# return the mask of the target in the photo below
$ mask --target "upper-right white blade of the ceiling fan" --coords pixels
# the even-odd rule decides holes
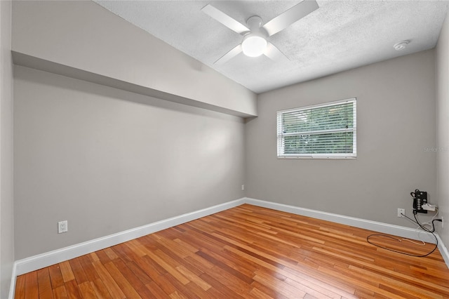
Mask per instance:
[[[267,24],[263,25],[262,28],[267,30],[268,36],[272,36],[318,8],[319,6],[315,0],[304,0],[288,9],[288,11],[284,11],[276,18],[273,18]]]

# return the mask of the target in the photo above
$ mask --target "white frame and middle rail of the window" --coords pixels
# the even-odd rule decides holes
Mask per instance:
[[[282,132],[282,117],[284,114],[287,114],[289,112],[303,112],[304,110],[309,109],[317,109],[317,108],[323,108],[323,107],[329,107],[329,106],[336,106],[341,105],[343,103],[353,103],[353,128],[347,128],[347,129],[336,129],[336,130],[328,130],[328,131],[322,131],[322,133],[340,133],[340,132],[352,132],[353,133],[353,139],[352,139],[352,153],[342,153],[342,154],[331,154],[331,153],[325,153],[325,154],[284,154],[282,147],[283,147],[283,139],[288,136],[284,135]],[[279,110],[276,112],[276,132],[277,132],[277,158],[278,159],[356,159],[357,157],[357,98],[347,98],[344,100],[337,100],[333,102],[325,102],[321,104],[316,105],[309,105],[304,107],[296,107],[291,109],[284,109]],[[307,133],[304,131],[303,133]],[[290,134],[290,135],[299,135],[298,133]]]

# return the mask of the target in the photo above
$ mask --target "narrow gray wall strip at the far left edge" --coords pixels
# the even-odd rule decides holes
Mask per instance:
[[[14,263],[13,62],[11,1],[0,1],[0,298],[8,298]]]

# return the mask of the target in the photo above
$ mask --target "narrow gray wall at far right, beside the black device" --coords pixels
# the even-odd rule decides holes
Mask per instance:
[[[436,156],[438,206],[449,225],[449,18],[446,16],[436,47]],[[449,246],[449,230],[438,230]]]

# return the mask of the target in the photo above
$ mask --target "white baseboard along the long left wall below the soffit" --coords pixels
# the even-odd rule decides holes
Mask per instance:
[[[182,223],[189,222],[207,215],[211,215],[213,213],[225,211],[229,208],[234,208],[234,206],[240,206],[244,202],[245,199],[243,198],[236,199],[234,201],[229,201],[225,204],[219,204],[217,206],[203,208],[202,210],[199,211],[194,211],[173,218],[168,218],[166,220],[153,222],[150,223],[149,225],[143,225],[141,227],[136,227],[131,230],[118,232],[116,234],[110,234],[109,236],[106,237],[93,239],[91,241],[86,241],[80,244],[60,248],[55,251],[49,251],[47,253],[42,253],[39,255],[34,255],[29,258],[24,258],[22,260],[17,260],[15,262],[15,275],[21,275],[27,272],[32,272],[34,270],[39,270],[43,267],[55,265],[65,260],[70,260],[72,258],[76,258],[81,255],[91,253],[93,251],[99,251],[101,249],[114,246],[116,244],[121,244],[123,242],[136,239],[145,236],[147,234],[152,234],[154,232],[159,232],[160,230],[165,230],[166,228],[173,227],[175,225],[180,225]],[[15,280],[15,276],[13,277],[13,279]]]

